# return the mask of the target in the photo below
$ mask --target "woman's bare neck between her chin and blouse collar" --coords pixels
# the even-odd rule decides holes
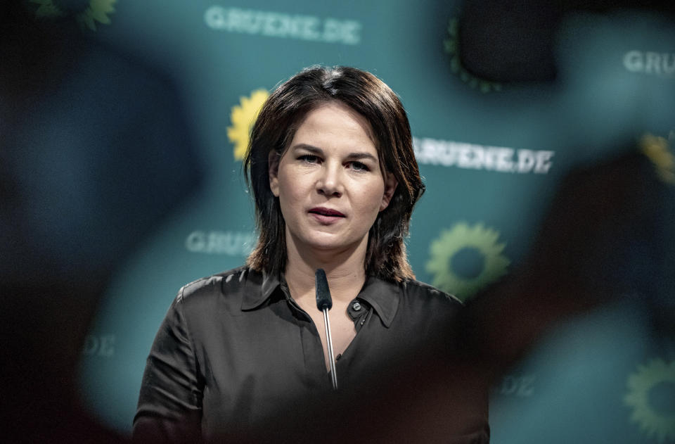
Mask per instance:
[[[290,236],[288,231],[286,235]],[[284,276],[293,298],[314,298],[315,272],[319,268],[326,272],[333,300],[352,300],[364,286],[367,236],[358,246],[344,250],[303,250],[301,253],[295,242],[286,244],[288,261]]]

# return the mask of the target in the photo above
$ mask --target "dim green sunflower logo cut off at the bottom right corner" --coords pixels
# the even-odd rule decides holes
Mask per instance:
[[[628,378],[628,390],[624,403],[633,408],[631,421],[659,443],[675,440],[675,360],[639,365]]]

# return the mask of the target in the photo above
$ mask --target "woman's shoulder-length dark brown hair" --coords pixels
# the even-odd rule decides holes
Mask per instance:
[[[269,188],[269,153],[282,156],[309,111],[342,102],[368,120],[383,172],[398,185],[389,206],[368,232],[366,274],[402,281],[415,276],[406,258],[413,206],[424,191],[413,152],[410,124],[398,96],[370,72],[338,66],[312,66],[277,87],[252,128],[243,168],[255,198],[257,246],[248,257],[252,269],[275,274],[285,269],[285,222]]]

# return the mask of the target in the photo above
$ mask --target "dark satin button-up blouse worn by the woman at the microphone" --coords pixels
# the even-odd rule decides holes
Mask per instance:
[[[415,359],[460,308],[418,281],[369,277],[347,310],[356,336],[336,357],[340,395],[358,398],[368,381],[387,378],[383,369]],[[331,391],[319,332],[283,277],[240,267],[179,291],[148,356],[134,438],[216,441],[264,430],[267,419]]]

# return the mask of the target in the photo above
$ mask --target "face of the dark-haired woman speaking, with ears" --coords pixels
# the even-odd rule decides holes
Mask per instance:
[[[347,250],[368,245],[368,230],[389,205],[396,179],[380,170],[371,126],[339,102],[311,110],[281,159],[270,156],[288,248]]]

